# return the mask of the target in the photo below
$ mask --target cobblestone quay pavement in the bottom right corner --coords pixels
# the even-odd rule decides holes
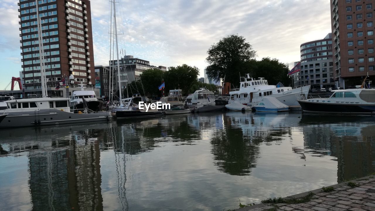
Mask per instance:
[[[347,186],[348,182],[333,185],[335,188],[330,192],[323,192],[321,189],[312,191],[315,195],[306,203],[298,204],[258,204],[240,208],[238,211],[375,211],[375,179],[373,176],[353,180],[357,187]],[[305,195],[308,192],[303,193]],[[298,194],[302,197],[303,194]],[[287,197],[296,197],[297,195]],[[298,198],[296,197],[296,198]]]

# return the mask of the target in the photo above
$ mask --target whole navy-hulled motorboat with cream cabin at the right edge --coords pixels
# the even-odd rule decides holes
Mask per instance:
[[[298,99],[303,113],[375,115],[375,89],[339,89],[332,95],[309,95]]]

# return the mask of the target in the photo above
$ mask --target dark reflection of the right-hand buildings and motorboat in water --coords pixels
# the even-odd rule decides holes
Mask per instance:
[[[338,162],[338,182],[360,178],[375,171],[373,122],[368,118],[326,118],[318,124],[302,118],[306,153],[332,156]]]

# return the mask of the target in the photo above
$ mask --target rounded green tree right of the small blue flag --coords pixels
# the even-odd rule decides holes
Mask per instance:
[[[165,90],[182,89],[183,95],[187,95],[190,87],[198,80],[198,75],[199,69],[196,66],[183,64],[169,67],[164,77]]]

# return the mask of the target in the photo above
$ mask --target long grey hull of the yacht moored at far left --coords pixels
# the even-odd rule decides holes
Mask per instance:
[[[0,122],[0,128],[74,124],[107,121],[111,118],[110,112],[71,113],[57,109],[40,109],[28,112],[9,112],[3,121]]]

